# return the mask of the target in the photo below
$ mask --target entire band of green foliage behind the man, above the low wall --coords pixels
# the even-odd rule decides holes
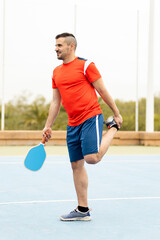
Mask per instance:
[[[104,103],[102,98],[98,99],[103,111],[104,119],[113,115],[110,108]],[[123,116],[123,131],[135,130],[135,102],[134,101],[115,101],[121,115]],[[31,104],[28,103],[28,97],[20,96],[19,98],[9,101],[5,106],[5,130],[42,130],[44,128],[49,103],[43,96],[38,96]],[[154,124],[155,131],[160,131],[160,97],[154,100]],[[1,111],[0,111],[1,115]],[[139,131],[145,131],[146,118],[146,99],[139,101]],[[66,130],[68,122],[67,113],[63,106],[60,108],[59,115],[53,125],[53,130]]]

